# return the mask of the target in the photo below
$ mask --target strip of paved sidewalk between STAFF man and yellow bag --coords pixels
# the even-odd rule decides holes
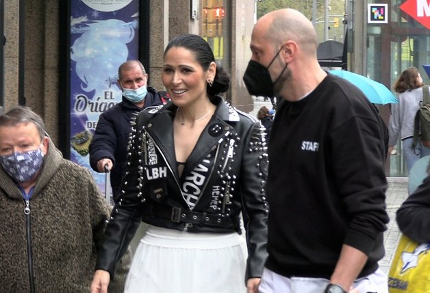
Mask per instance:
[[[396,211],[400,205],[407,198],[407,177],[395,178],[390,177],[388,180],[387,190],[387,212],[390,216],[390,222],[388,223],[388,229],[385,231],[383,236],[383,242],[385,245],[385,257],[379,262],[381,269],[388,274],[390,270],[390,264],[396,251],[397,243],[401,232],[396,224]]]

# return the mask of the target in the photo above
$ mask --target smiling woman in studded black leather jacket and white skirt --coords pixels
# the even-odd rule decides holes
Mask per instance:
[[[106,292],[118,256],[143,220],[151,227],[125,292],[257,293],[268,214],[262,127],[224,101],[230,78],[200,36],[169,42],[162,81],[172,103],[143,110],[134,123],[123,192],[91,292]]]

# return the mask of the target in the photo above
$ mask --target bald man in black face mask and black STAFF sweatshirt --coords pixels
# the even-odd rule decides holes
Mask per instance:
[[[317,47],[296,10],[270,12],[253,29],[246,88],[281,99],[260,292],[388,292],[378,267],[389,220],[384,127],[358,88],[320,67]]]

